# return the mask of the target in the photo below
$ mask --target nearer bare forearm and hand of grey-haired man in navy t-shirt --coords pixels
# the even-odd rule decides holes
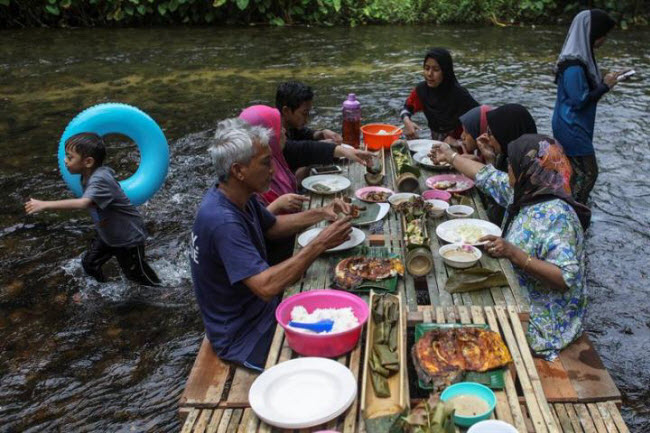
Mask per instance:
[[[307,268],[325,250],[347,240],[352,231],[349,221],[349,217],[336,221],[291,258],[246,278],[242,282],[260,298],[265,301],[271,300],[285,288],[298,281]]]

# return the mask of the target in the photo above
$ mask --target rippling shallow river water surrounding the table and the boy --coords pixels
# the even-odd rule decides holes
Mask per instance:
[[[477,100],[528,106],[550,132],[551,67],[564,29],[237,28],[0,32],[0,431],[177,431],[176,409],[203,326],[186,259],[195,209],[213,179],[205,152],[216,122],[272,104],[287,79],[316,91],[314,125],[338,127],[348,92],[364,121],[397,122],[427,47],[449,47]],[[601,175],[587,237],[588,330],[625,394],[632,431],[650,431],[650,31],[615,31],[604,69],[637,78],[599,105]],[[170,141],[163,189],[140,209],[148,256],[165,287],[100,285],[80,270],[92,238],[83,212],[26,217],[29,197],[69,196],[56,149],[67,122],[96,103],[136,105]],[[132,143],[111,140],[127,176]]]

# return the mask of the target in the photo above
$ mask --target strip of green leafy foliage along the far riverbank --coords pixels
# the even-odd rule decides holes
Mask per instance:
[[[644,0],[0,0],[0,27],[169,24],[555,23],[599,7],[647,25]]]

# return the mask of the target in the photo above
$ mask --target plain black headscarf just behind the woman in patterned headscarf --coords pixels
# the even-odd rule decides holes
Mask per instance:
[[[488,127],[501,145],[504,155],[508,155],[508,146],[524,134],[537,134],[535,119],[526,107],[519,104],[505,104],[488,111]]]

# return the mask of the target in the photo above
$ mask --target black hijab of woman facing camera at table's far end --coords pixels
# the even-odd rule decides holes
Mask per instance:
[[[438,87],[429,87],[423,81],[416,86],[415,91],[424,107],[429,128],[435,132],[448,133],[460,126],[458,118],[477,107],[478,102],[458,83],[449,51],[432,48],[424,57],[423,65],[428,59],[435,59],[440,65],[442,82]]]

